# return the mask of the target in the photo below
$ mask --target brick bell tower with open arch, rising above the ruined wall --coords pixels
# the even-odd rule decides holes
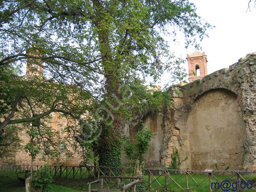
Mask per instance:
[[[189,71],[189,82],[196,79],[202,79],[207,75],[207,58],[204,52],[194,52],[193,54],[187,54],[187,63]]]

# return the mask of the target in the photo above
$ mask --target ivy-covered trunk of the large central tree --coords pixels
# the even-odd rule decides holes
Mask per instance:
[[[102,123],[102,133],[100,135],[99,146],[98,146],[98,156],[100,166],[121,166],[121,121],[118,110],[114,109],[119,103],[115,97],[118,96],[118,90],[120,86],[119,81],[119,64],[114,61],[112,56],[112,50],[109,43],[109,35],[111,31],[106,26],[110,24],[108,18],[106,17],[106,10],[99,0],[93,0],[93,6],[95,7],[95,12],[97,19],[95,20],[95,27],[98,29],[98,39],[100,42],[100,52],[104,57],[102,58],[102,68],[105,73],[105,89],[106,89],[106,106],[109,111],[105,111],[105,116],[111,119],[106,120]],[[114,97],[113,97],[114,96]],[[111,113],[111,115],[109,115]],[[111,116],[111,117],[110,117]],[[109,125],[109,122],[110,125]],[[109,170],[104,169],[106,174],[109,174]],[[119,169],[112,170],[115,175],[120,174]],[[105,174],[104,173],[104,174]]]

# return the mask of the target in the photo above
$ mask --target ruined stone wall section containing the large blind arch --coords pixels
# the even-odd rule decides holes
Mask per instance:
[[[182,169],[256,169],[256,53],[186,85],[163,113],[160,163],[179,151]]]

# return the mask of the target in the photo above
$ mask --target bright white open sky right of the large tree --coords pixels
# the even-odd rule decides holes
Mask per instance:
[[[247,11],[249,0],[190,0],[197,7],[197,14],[211,25],[209,38],[200,43],[202,51],[207,55],[208,74],[226,68],[237,62],[246,54],[256,52],[256,8],[254,0],[250,4],[251,12]],[[247,11],[247,12],[246,12]],[[185,49],[182,39],[180,44],[171,49],[186,59],[187,54],[195,52],[195,48]],[[172,51],[171,50],[171,51]],[[187,63],[184,66],[187,69]],[[167,74],[160,85],[167,81]]]

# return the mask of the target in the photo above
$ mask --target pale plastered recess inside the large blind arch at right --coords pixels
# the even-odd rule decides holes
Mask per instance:
[[[187,118],[191,168],[241,170],[245,128],[236,94],[213,89],[200,96]]]

